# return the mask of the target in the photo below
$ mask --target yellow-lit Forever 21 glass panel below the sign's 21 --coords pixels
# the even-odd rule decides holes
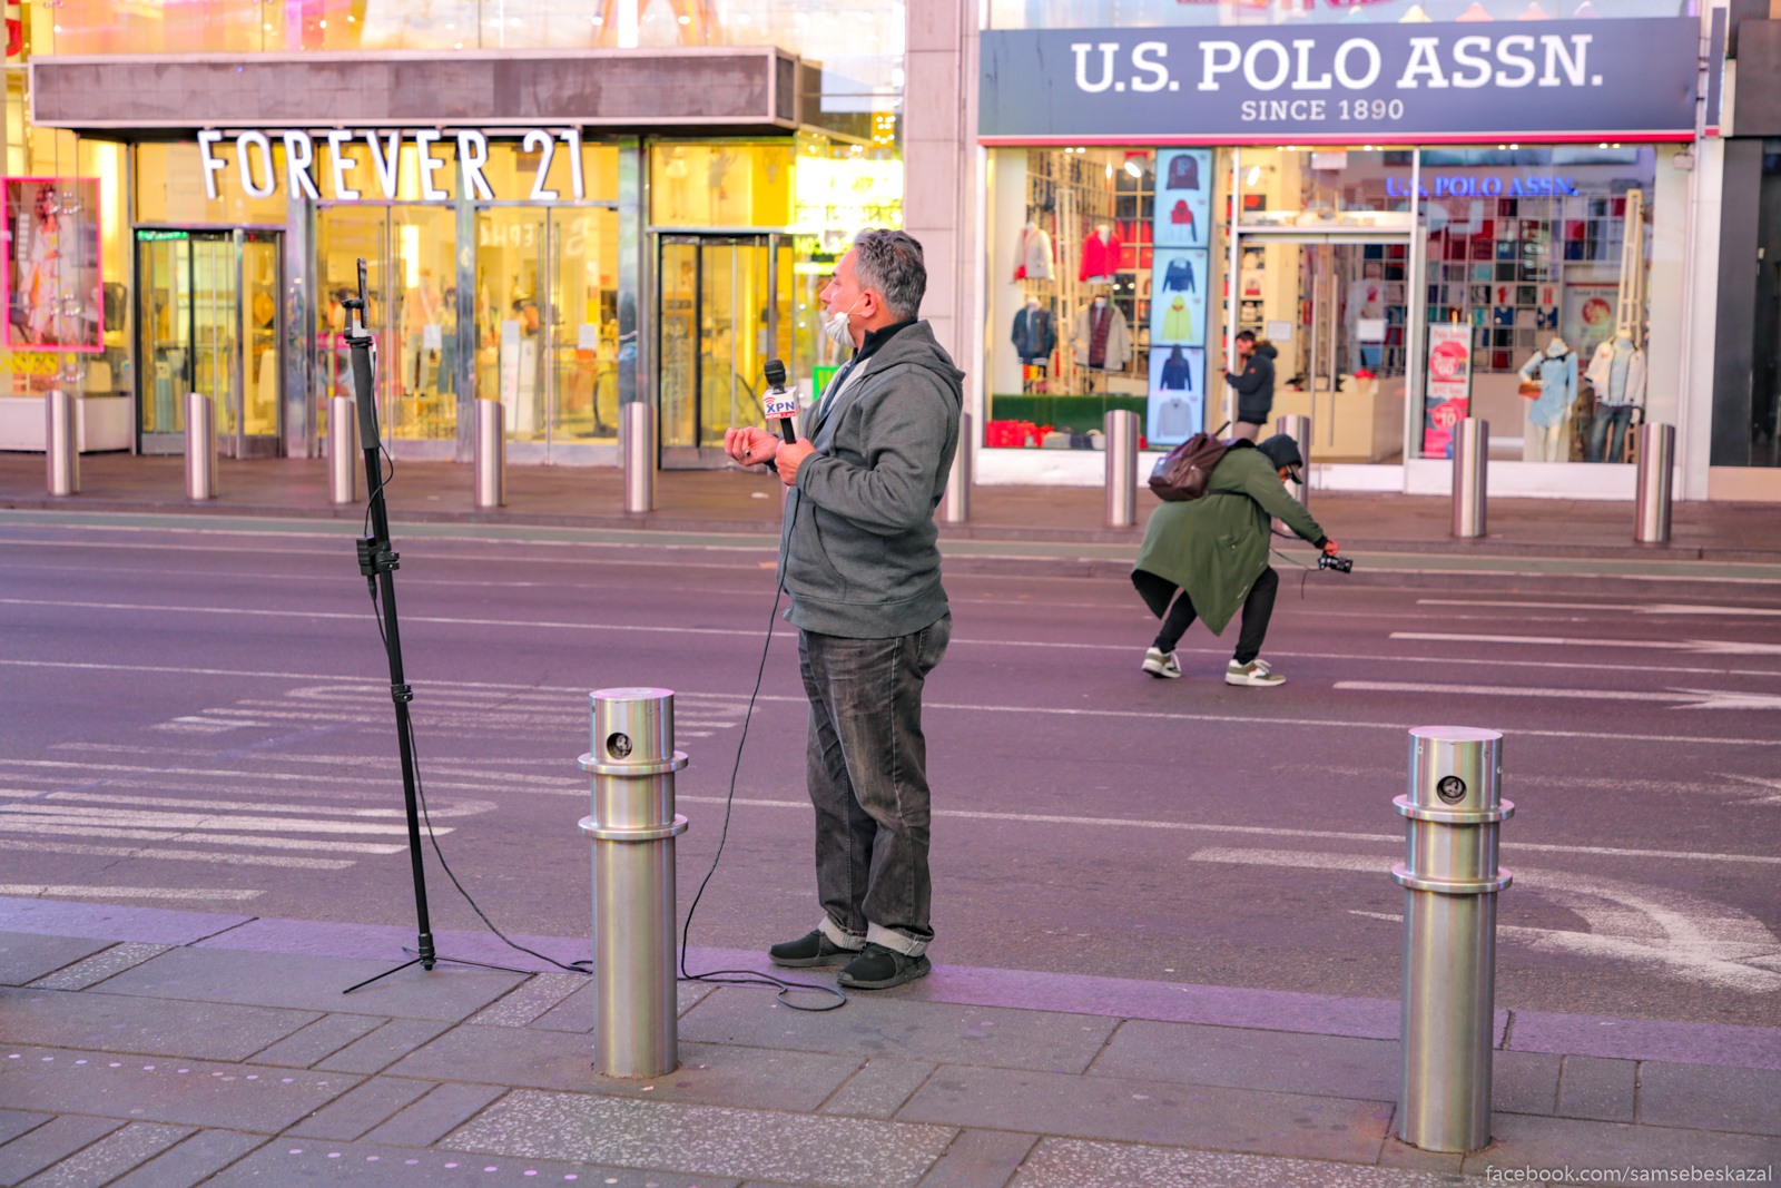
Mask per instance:
[[[511,458],[566,461],[618,440],[614,210],[477,210],[474,374],[502,404]]]

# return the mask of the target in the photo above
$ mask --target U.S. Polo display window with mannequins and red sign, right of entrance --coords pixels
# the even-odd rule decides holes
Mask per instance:
[[[1419,456],[1450,456],[1453,424],[1480,417],[1503,460],[1633,460],[1658,330],[1656,160],[1637,144],[1423,150]]]

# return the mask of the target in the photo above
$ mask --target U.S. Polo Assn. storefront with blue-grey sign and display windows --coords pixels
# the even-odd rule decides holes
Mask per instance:
[[[1781,499],[1774,287],[1717,274],[1753,7],[990,0],[980,476],[1095,481],[1110,410],[1216,431],[1248,331],[1318,486],[1446,492],[1478,417],[1492,493],[1631,499],[1649,420],[1683,497]]]

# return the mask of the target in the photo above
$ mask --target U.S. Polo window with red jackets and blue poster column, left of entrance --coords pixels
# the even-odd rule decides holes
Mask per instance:
[[[1113,410],[1138,413],[1147,445],[1206,426],[1227,151],[997,150],[992,169],[985,443],[1102,449]]]

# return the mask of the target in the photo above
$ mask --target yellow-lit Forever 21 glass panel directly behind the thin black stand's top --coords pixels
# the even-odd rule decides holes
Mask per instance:
[[[321,290],[315,328],[315,424],[328,397],[354,395],[346,306],[365,260],[367,313],[378,338],[378,424],[404,452],[451,458],[458,436],[456,214],[451,207],[324,207],[317,217]],[[429,445],[420,445],[422,442]]]

